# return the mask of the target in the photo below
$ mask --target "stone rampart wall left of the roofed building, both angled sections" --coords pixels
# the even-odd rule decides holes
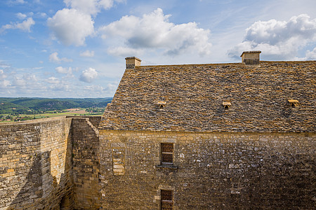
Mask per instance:
[[[97,209],[98,122],[0,124],[0,209]]]

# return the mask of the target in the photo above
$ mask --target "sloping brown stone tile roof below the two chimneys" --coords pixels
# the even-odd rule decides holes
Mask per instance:
[[[136,66],[99,129],[315,132],[315,78],[316,61]]]

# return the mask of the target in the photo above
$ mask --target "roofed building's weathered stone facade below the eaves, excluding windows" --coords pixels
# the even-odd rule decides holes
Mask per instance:
[[[159,209],[160,190],[174,209],[315,207],[315,133],[99,132],[103,209]]]

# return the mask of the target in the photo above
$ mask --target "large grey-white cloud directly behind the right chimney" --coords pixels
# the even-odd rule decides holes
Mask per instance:
[[[258,21],[246,29],[246,36],[228,52],[239,57],[244,50],[261,50],[266,56],[277,59],[294,59],[298,50],[316,41],[316,19],[298,15],[289,21]]]

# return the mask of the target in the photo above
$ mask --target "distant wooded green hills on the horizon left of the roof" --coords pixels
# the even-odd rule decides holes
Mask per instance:
[[[105,107],[112,101],[107,98],[4,98],[0,97],[0,114],[36,113],[39,111],[63,110],[73,108]]]

